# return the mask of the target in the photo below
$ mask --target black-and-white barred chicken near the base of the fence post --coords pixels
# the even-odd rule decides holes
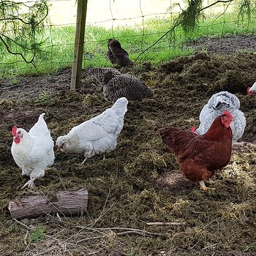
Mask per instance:
[[[105,99],[112,102],[121,97],[136,100],[154,96],[154,90],[148,88],[138,78],[121,74],[113,68],[91,68],[87,74],[93,75],[102,83]]]

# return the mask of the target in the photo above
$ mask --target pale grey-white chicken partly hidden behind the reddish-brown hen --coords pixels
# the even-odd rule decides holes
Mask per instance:
[[[200,112],[200,126],[195,130],[195,133],[199,135],[205,134],[211,127],[214,119],[217,118],[217,116],[221,116],[224,110],[228,110],[233,116],[233,122],[230,124],[233,132],[232,143],[236,143],[244,134],[246,127],[246,118],[239,108],[240,101],[238,97],[234,94],[230,94],[228,91],[220,91],[212,95]]]

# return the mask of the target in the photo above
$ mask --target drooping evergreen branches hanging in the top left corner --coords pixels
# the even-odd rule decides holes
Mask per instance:
[[[42,55],[43,21],[48,15],[47,0],[29,6],[26,3],[2,0],[0,4],[0,49],[20,56],[27,64]],[[2,50],[3,52],[3,50]]]

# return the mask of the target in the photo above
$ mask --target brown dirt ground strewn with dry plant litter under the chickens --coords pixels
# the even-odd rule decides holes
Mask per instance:
[[[105,161],[95,156],[85,165],[80,165],[82,155],[56,150],[54,165],[36,181],[37,187],[23,190],[28,177],[21,176],[12,159],[12,125],[30,129],[45,112],[56,140],[111,102],[84,76],[80,91],[69,91],[69,68],[55,75],[18,78],[15,84],[0,81],[0,255],[255,255],[256,97],[246,95],[246,88],[256,80],[256,55],[197,53],[121,72],[136,75],[155,90],[155,96],[129,102],[116,150]],[[211,94],[225,90],[241,101],[246,143],[206,183],[216,189],[201,192],[198,184],[181,176],[157,129],[197,126]],[[15,222],[6,208],[18,197],[83,187],[89,191],[83,217]]]

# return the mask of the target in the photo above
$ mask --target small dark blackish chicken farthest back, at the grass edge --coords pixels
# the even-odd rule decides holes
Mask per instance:
[[[133,62],[129,59],[129,54],[121,48],[120,42],[116,39],[108,39],[108,59],[118,67],[132,66]]]

